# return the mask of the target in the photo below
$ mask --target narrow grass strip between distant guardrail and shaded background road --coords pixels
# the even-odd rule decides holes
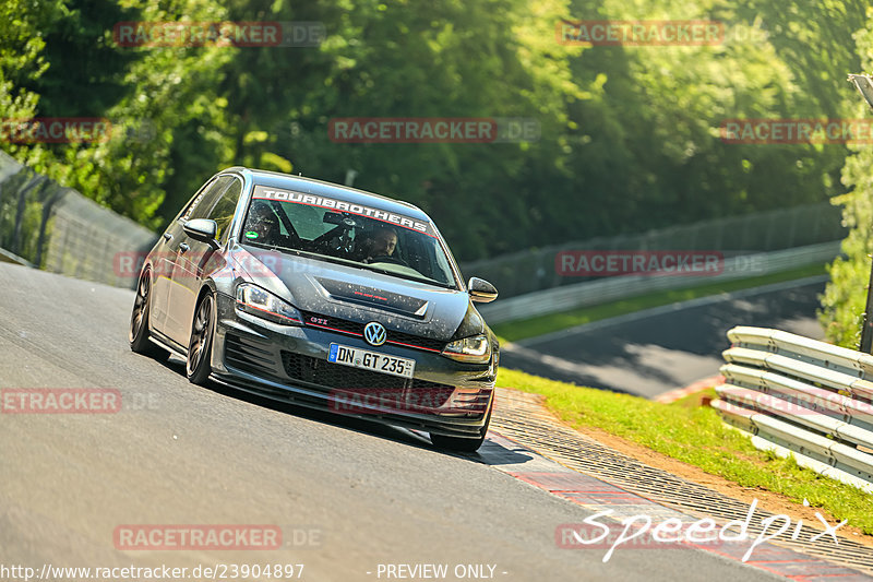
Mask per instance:
[[[622,316],[624,313],[639,311],[641,309],[648,309],[651,307],[674,304],[677,301],[696,299],[697,297],[718,295],[719,293],[730,293],[751,287],[758,287],[761,285],[769,285],[772,283],[781,283],[784,281],[793,281],[796,278],[823,274],[825,274],[825,265],[816,264],[757,277],[725,281],[709,285],[702,285],[699,287],[663,290],[649,295],[629,297],[618,301],[611,301],[591,307],[583,307],[579,309],[573,309],[572,311],[552,313],[550,316],[507,321],[505,323],[492,325],[492,329],[501,338],[501,342],[516,342],[518,340],[524,340],[525,337],[534,337],[545,333],[565,330],[574,325],[590,323],[591,321],[597,321],[599,319]]]

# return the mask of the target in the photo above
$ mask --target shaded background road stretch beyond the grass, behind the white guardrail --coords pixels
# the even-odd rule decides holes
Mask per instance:
[[[815,319],[825,277],[704,297],[501,349],[501,366],[537,376],[655,397],[718,373],[734,325],[778,328],[821,338]]]

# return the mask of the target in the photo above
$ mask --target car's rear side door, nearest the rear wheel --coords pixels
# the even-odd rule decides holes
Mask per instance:
[[[182,225],[191,218],[194,207],[212,193],[217,179],[217,177],[211,178],[198,190],[182,212],[167,227],[159,240],[159,246],[152,263],[154,283],[152,284],[152,305],[150,307],[148,321],[154,330],[165,335],[170,335],[167,329],[170,287],[172,286],[172,270],[179,252],[179,242],[181,242],[184,234]]]

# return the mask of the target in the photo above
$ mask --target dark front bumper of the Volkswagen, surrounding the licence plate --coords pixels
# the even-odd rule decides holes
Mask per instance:
[[[307,407],[452,437],[479,438],[493,404],[497,355],[468,365],[440,354],[314,326],[278,325],[217,294],[213,375],[237,389]],[[331,343],[416,360],[406,379],[327,361]]]

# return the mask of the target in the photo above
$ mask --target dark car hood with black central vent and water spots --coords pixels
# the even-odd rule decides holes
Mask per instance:
[[[379,321],[388,330],[446,342],[456,332],[467,336],[485,329],[466,292],[249,245],[236,246],[231,259],[254,283],[304,311],[304,318]]]

